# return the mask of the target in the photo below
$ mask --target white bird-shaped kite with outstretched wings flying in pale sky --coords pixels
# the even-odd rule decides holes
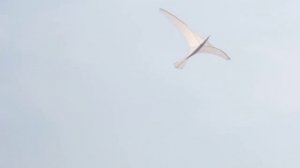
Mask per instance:
[[[224,51],[214,47],[208,42],[209,36],[207,38],[200,37],[175,15],[161,8],[160,11],[163,12],[182,32],[190,48],[187,57],[175,63],[176,68],[182,69],[189,58],[200,52],[214,54],[225,60],[230,60],[230,57]]]

